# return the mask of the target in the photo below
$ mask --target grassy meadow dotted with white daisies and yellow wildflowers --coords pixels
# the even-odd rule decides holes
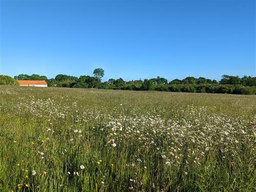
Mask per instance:
[[[0,191],[255,191],[256,96],[0,87]]]

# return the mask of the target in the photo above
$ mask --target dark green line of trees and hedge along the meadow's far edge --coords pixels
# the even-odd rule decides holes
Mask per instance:
[[[112,90],[134,90],[134,91],[170,91],[189,93],[228,93],[228,94],[256,94],[256,77],[222,75],[220,81],[211,80],[204,77],[186,77],[184,79],[174,79],[168,81],[163,77],[151,79],[138,79],[124,81],[122,78],[111,78],[102,82],[104,70],[99,68],[93,71],[94,76],[76,76],[58,74],[55,78],[48,79],[47,76],[38,74],[19,74],[14,76],[15,80],[45,80],[49,87],[65,88],[97,88]],[[1,77],[0,77],[1,84]],[[7,83],[2,83],[7,84]]]

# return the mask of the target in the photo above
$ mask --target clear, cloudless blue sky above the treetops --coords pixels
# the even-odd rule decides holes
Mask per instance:
[[[2,74],[255,76],[254,0],[1,0]]]

